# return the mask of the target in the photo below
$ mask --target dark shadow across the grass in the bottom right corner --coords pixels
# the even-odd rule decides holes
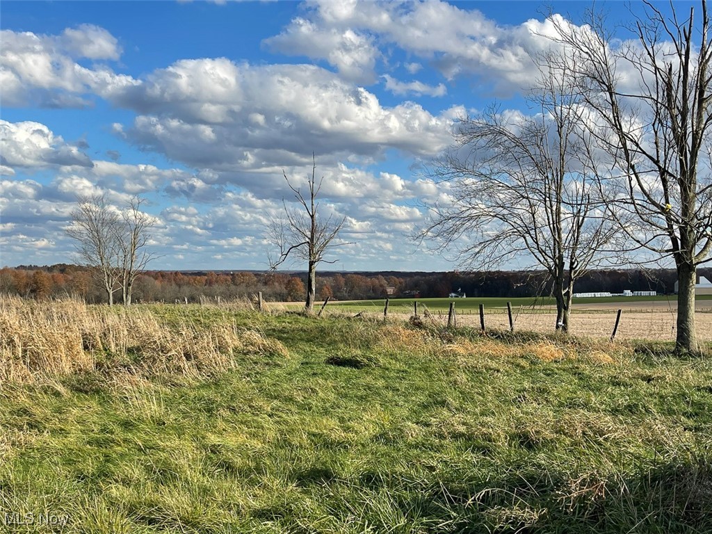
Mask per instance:
[[[402,525],[429,525],[429,532],[712,532],[708,461],[661,464],[623,476],[587,473],[575,479],[523,467],[487,483],[455,478],[403,483],[396,476],[367,472],[357,484],[365,503],[360,520],[377,531],[393,528],[383,518],[393,517],[395,507]]]

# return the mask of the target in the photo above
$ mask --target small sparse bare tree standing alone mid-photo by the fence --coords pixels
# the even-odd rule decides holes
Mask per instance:
[[[311,177],[308,177],[307,194],[303,194],[300,188],[294,187],[287,174],[283,172],[284,179],[293,192],[299,207],[289,208],[285,203],[283,218],[271,222],[266,236],[269,243],[276,247],[278,253],[276,257],[273,253],[268,253],[268,261],[272,270],[276,270],[290,256],[307,262],[307,294],[304,305],[307,313],[312,313],[314,310],[318,264],[321,262],[335,263],[335,261],[325,260],[325,254],[330,248],[345,244],[334,242],[344,224],[345,217],[334,219],[330,215],[324,220],[318,213],[319,204],[316,198],[321,189],[323,178],[317,184],[314,155],[312,155],[312,159],[313,167]]]

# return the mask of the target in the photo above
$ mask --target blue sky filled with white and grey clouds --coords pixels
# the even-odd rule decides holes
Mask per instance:
[[[151,268],[266,269],[266,226],[293,200],[283,174],[305,184],[314,155],[320,212],[344,218],[326,269],[457,268],[412,239],[448,199],[429,162],[460,117],[527,112],[548,17],[588,7],[4,0],[0,266],[74,261],[77,196],[138,194]],[[623,2],[597,8],[629,19]]]

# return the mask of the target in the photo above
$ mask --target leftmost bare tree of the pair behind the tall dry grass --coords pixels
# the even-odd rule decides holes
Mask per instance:
[[[121,279],[120,214],[111,209],[105,195],[81,196],[77,202],[66,234],[75,240],[80,261],[94,268],[95,278],[105,290],[109,305],[113,305]]]

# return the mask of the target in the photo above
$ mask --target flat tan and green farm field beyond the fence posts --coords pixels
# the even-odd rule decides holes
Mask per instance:
[[[556,309],[553,298],[402,298],[389,300],[389,316],[408,317],[414,313],[417,300],[419,313],[429,320],[446,323],[451,302],[455,303],[457,324],[478,326],[479,305],[484,305],[486,328],[508,329],[506,305],[512,305],[516,330],[548,332],[553,330]],[[328,309],[362,315],[383,315],[385,300],[351,300],[331,302]],[[676,295],[656,297],[575,298],[572,303],[572,333],[583,336],[609,337],[617,310],[622,316],[617,332],[619,339],[674,340],[676,337]],[[712,295],[696,302],[697,333],[700,340],[712,341]],[[427,312],[427,313],[426,313]]]

